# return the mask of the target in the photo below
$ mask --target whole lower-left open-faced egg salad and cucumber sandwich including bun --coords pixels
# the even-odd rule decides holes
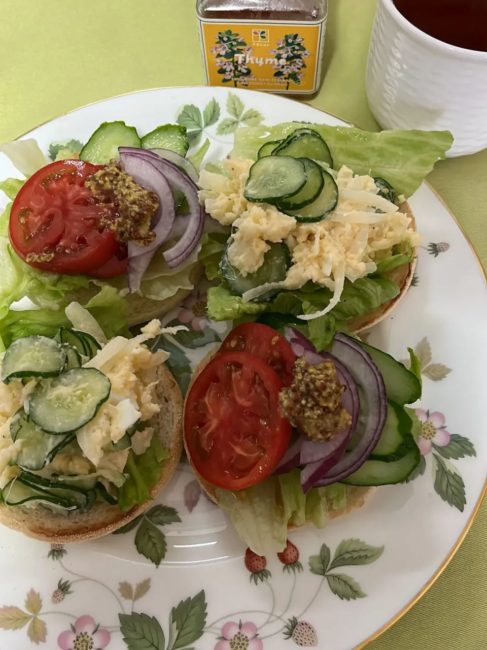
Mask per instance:
[[[182,395],[168,354],[142,333],[108,340],[73,302],[66,325],[15,339],[0,357],[0,522],[82,541],[131,521],[174,473]]]

